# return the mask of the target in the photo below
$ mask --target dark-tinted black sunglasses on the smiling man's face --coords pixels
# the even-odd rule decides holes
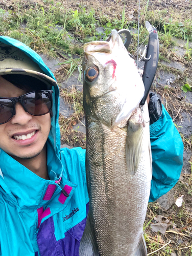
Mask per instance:
[[[52,110],[51,90],[35,91],[19,97],[0,97],[0,124],[7,123],[15,115],[15,104],[20,102],[23,109],[33,116],[46,115]]]

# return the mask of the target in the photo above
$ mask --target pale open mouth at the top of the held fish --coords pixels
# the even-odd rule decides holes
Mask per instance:
[[[83,50],[85,53],[112,53],[112,49],[114,48],[114,46],[116,44],[119,44],[119,38],[121,39],[121,37],[118,35],[118,32],[113,29],[106,41],[87,42],[84,45]]]

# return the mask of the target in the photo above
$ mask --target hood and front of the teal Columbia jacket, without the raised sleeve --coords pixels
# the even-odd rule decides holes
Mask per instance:
[[[18,47],[38,63],[46,75],[54,78],[41,57],[29,47],[5,36],[0,36],[0,41]],[[84,230],[86,204],[89,201],[85,177],[85,151],[81,148],[60,149],[59,88],[53,86],[52,90],[52,127],[46,142],[50,180],[35,175],[0,148],[1,256],[74,256],[74,252],[77,254],[79,250],[79,238]],[[69,197],[63,203],[59,202],[62,188],[55,182],[60,178],[61,187],[71,189]],[[49,186],[55,189],[49,197],[45,197]],[[44,197],[49,200],[43,200]],[[46,223],[51,224],[44,228]],[[72,229],[73,233],[76,225],[78,238],[68,232]],[[73,245],[68,245],[72,240],[66,240],[65,234],[66,237],[73,238]],[[51,246],[53,238],[56,247]]]

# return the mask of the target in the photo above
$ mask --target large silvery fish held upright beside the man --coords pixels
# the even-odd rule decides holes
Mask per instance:
[[[112,30],[84,45],[83,104],[89,211],[80,256],[146,256],[152,178],[148,105],[135,61]]]

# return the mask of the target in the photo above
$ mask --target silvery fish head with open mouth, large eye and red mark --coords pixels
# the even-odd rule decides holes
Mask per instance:
[[[114,126],[137,108],[145,88],[116,30],[106,41],[84,45],[83,84],[85,113],[92,118]]]

